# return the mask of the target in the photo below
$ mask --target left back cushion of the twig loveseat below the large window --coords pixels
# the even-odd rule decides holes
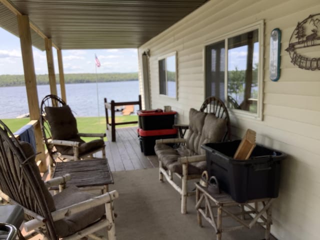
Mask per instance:
[[[189,111],[189,132],[186,137],[186,147],[198,154],[199,143],[207,113],[190,108]]]

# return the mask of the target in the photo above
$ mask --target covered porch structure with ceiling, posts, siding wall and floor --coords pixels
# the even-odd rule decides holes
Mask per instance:
[[[47,164],[38,123],[39,103],[31,45],[46,51],[48,94],[57,92],[52,60],[52,49],[56,49],[61,97],[66,101],[63,49],[138,48],[142,108],[170,105],[179,114],[177,121],[188,123],[189,108],[198,108],[207,94],[205,68],[212,67],[212,72],[213,68],[223,68],[219,64],[205,63],[205,51],[214,52],[221,40],[225,42],[219,49],[223,49],[228,38],[256,30],[260,50],[256,93],[259,98],[253,100],[258,101],[257,110],[256,114],[230,110],[232,138],[240,138],[247,128],[253,128],[258,143],[288,154],[282,164],[279,196],[273,203],[271,233],[278,239],[317,239],[319,68],[302,69],[295,61],[304,58],[296,54],[296,58],[291,59],[291,53],[285,49],[295,36],[305,38],[309,34],[308,39],[314,38],[309,39],[309,45],[305,39],[301,54],[309,54],[311,63],[319,59],[319,31],[316,30],[320,27],[319,12],[318,0],[0,0],[0,26],[21,39],[30,120],[33,120],[37,151],[42,153],[37,155],[39,169],[45,172]],[[304,34],[305,29],[298,26],[308,16],[316,19],[308,22],[310,32]],[[269,37],[275,28],[282,32],[282,47],[277,52],[281,58],[278,65],[281,76],[278,81],[271,81]],[[253,49],[252,41],[250,44]],[[253,57],[253,52],[250,54]],[[162,94],[159,83],[159,63],[171,56],[176,59],[175,97]],[[223,62],[227,65],[227,60],[215,63]],[[226,77],[227,73],[221,75]],[[221,83],[227,85],[227,81]],[[227,97],[227,89],[215,90]],[[158,181],[157,159],[140,152],[136,129],[119,128],[116,134],[116,142],[106,142],[106,155],[114,172],[115,184],[110,189],[114,187],[120,195],[114,205],[118,208],[116,232],[119,239],[214,238],[213,228],[207,223],[203,221],[203,228],[197,226],[193,198],[188,201],[189,214],[179,213],[178,194],[165,182]],[[246,230],[225,233],[222,239],[262,239],[263,229],[256,229],[258,231],[253,234]]]

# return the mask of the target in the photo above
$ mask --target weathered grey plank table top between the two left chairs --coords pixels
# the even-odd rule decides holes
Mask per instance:
[[[113,183],[112,173],[106,158],[57,162],[52,178],[66,173],[71,175],[71,180],[67,181],[66,186],[101,186]]]

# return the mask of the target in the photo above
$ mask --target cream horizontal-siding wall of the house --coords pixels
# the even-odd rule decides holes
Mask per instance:
[[[318,239],[320,70],[294,66],[285,51],[297,23],[316,13],[320,13],[319,0],[210,0],[138,49],[140,63],[142,52],[150,50],[151,107],[171,105],[178,111],[178,121],[188,123],[189,108],[198,109],[204,100],[205,42],[264,20],[263,119],[234,113],[230,117],[233,137],[242,137],[251,128],[258,143],[288,154],[272,210],[271,232],[278,239]],[[282,34],[281,76],[273,82],[268,74],[269,37],[276,27]],[[320,57],[320,46],[312,49],[311,54]],[[177,51],[177,100],[158,94],[158,57],[173,51]],[[309,51],[304,48],[305,54]]]

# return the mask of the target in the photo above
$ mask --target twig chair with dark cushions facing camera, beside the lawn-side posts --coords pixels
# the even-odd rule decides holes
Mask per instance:
[[[56,95],[46,95],[40,105],[40,124],[44,143],[50,155],[50,167],[55,159],[78,160],[92,158],[102,151],[105,158],[105,133],[79,133],[76,120],[66,103]],[[99,137],[84,142],[80,137]]]

